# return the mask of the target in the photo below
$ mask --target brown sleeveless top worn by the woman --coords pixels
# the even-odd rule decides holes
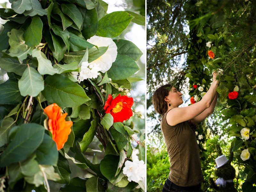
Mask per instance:
[[[169,180],[180,187],[198,185],[203,182],[204,177],[196,133],[187,121],[175,126],[167,124],[168,112],[162,118],[161,130],[171,163]]]

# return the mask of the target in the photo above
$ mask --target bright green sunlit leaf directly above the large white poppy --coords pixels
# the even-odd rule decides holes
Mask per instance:
[[[109,13],[99,20],[97,35],[111,38],[119,36],[133,18],[132,15],[124,11]]]

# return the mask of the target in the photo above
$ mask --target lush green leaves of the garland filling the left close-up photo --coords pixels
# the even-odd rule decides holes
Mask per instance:
[[[45,182],[49,191],[48,180],[53,180],[63,184],[60,191],[145,190],[142,181],[129,182],[123,174],[134,148],[133,134],[140,138],[136,149],[145,162],[145,133],[134,126],[132,117],[113,123],[112,115],[103,110],[108,95],[128,96],[131,83],[142,80],[132,77],[140,69],[136,61],[142,52],[118,36],[131,21],[145,25],[145,17],[125,11],[107,14],[108,4],[102,0],[10,3],[12,9],[0,9],[1,18],[7,20],[0,33],[0,68],[9,76],[0,84],[0,188],[46,191]],[[115,37],[109,41],[116,46],[117,56],[107,70],[99,69],[96,77],[80,82],[78,72],[86,63],[102,59],[109,48],[91,44],[95,35]],[[73,122],[59,151],[43,112],[52,103]],[[93,140],[97,150],[89,146]],[[89,152],[94,152],[92,160],[84,155]],[[70,163],[89,174],[71,178]]]

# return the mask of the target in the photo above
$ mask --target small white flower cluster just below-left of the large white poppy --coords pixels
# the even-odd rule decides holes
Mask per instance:
[[[81,63],[81,71],[78,73],[76,71],[71,72],[71,74],[78,78],[78,82],[84,81],[85,79],[97,78],[100,67],[98,64],[88,63],[88,61],[84,61]]]

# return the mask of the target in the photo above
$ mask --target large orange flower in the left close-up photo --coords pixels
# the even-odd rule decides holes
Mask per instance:
[[[68,140],[73,122],[65,120],[68,114],[62,114],[61,108],[56,103],[44,108],[44,113],[46,113],[49,119],[48,128],[52,133],[52,140],[55,141],[57,149],[60,150]]]

